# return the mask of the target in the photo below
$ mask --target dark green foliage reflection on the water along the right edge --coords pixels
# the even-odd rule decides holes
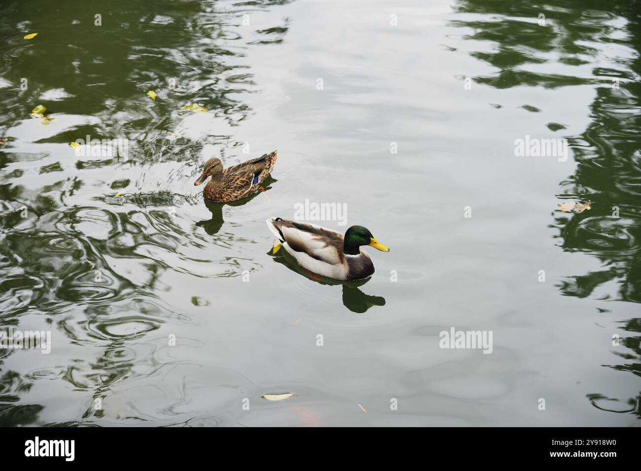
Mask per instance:
[[[603,270],[567,276],[559,286],[567,296],[641,302],[641,8],[637,2],[597,1],[546,3],[543,10],[523,2],[464,0],[456,3],[459,13],[483,13],[471,21],[455,21],[472,28],[469,40],[492,44],[492,51],[471,55],[497,68],[474,81],[495,88],[572,87],[592,85],[590,124],[580,135],[566,136],[578,168],[560,183],[558,197],[592,201],[583,213],[554,213],[563,251],[584,252],[598,258]],[[545,26],[539,13],[551,18]],[[612,54],[612,50],[616,54]],[[605,58],[606,65],[590,65]],[[529,65],[558,62],[576,66],[572,74],[535,72]],[[535,69],[535,68],[534,68]],[[552,123],[552,131],[564,126]],[[614,282],[616,292],[600,286]],[[615,352],[621,364],[607,365],[641,376],[641,318],[620,322],[629,332]],[[597,408],[635,413],[641,417],[641,393],[626,401],[588,394]],[[604,402],[605,401],[605,402]],[[612,407],[625,402],[626,406]]]

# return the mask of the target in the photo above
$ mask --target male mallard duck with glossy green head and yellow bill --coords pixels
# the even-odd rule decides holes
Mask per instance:
[[[352,226],[345,236],[324,227],[279,217],[267,219],[269,230],[304,269],[333,279],[355,281],[374,273],[374,264],[360,247],[390,249],[379,243],[363,226]],[[280,248],[274,246],[274,253]]]

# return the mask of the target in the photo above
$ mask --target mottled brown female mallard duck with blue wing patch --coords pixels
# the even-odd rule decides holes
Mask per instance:
[[[211,176],[212,179],[203,190],[206,199],[214,202],[238,201],[258,191],[274,168],[276,159],[278,159],[278,152],[274,151],[223,169],[219,158],[211,158],[204,164],[203,174],[198,177],[194,185],[201,185]]]

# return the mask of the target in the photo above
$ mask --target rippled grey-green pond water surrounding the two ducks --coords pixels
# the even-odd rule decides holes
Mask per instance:
[[[51,352],[0,349],[0,425],[637,426],[640,11],[3,2],[0,328]],[[204,204],[204,161],[274,149],[265,192]],[[369,281],[271,256],[306,200],[390,247]]]

